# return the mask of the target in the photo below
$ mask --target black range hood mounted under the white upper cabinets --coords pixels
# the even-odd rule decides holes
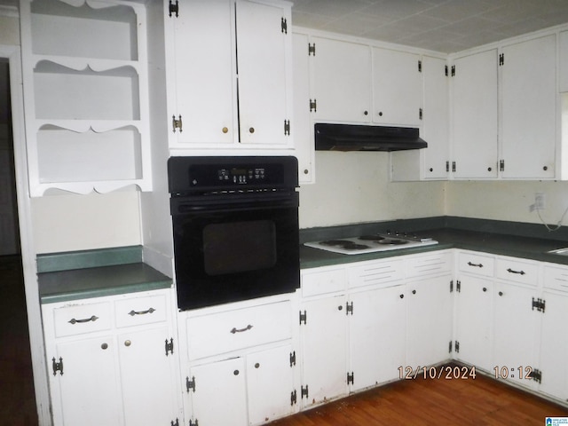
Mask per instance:
[[[355,124],[315,124],[317,151],[402,151],[428,144],[410,127]]]

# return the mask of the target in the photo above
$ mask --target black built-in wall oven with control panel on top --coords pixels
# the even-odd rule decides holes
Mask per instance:
[[[171,157],[168,172],[180,310],[299,287],[295,157]]]

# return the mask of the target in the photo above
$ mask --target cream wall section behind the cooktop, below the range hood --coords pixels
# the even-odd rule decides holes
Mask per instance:
[[[446,214],[446,183],[390,183],[387,153],[316,153],[316,183],[300,188],[300,227]]]

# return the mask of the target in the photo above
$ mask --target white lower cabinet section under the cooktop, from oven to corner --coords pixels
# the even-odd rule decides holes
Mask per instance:
[[[451,358],[452,258],[446,250],[303,271],[303,406]]]

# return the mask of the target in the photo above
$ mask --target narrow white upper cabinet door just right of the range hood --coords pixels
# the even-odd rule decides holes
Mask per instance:
[[[446,76],[446,59],[422,57],[424,78],[424,99],[422,114],[422,138],[428,142],[426,149],[420,150],[422,177],[425,179],[445,179],[446,162],[449,155],[449,83]]]

